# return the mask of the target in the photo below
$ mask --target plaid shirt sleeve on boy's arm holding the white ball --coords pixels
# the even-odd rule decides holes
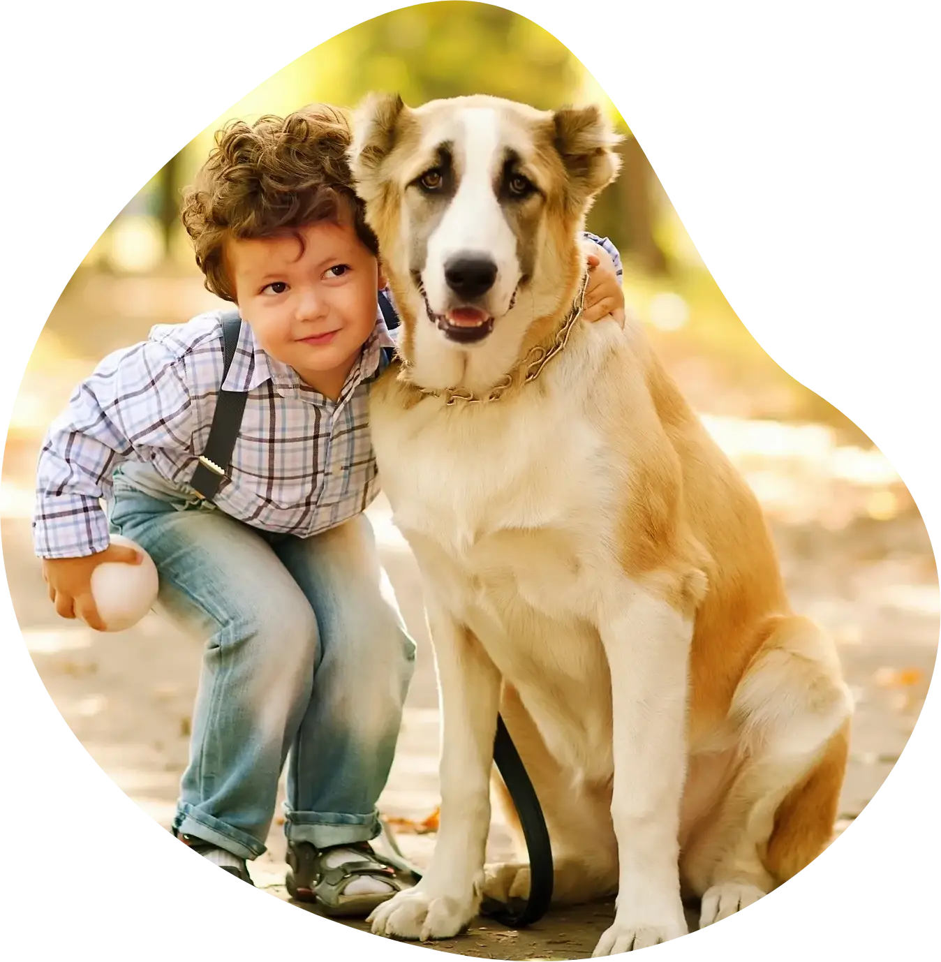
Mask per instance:
[[[33,542],[40,558],[80,558],[106,548],[98,503],[111,474],[138,448],[188,449],[191,397],[180,362],[146,341],[109,355],[72,393],[39,454]]]

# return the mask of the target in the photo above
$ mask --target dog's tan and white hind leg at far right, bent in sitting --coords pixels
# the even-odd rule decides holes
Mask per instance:
[[[766,898],[827,849],[846,771],[852,698],[827,637],[777,622],[729,711],[738,765],[715,815],[681,857],[699,927]]]

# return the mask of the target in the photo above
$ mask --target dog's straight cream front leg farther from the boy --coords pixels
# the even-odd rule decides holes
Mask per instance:
[[[670,595],[624,584],[599,623],[611,670],[618,840],[614,924],[593,958],[652,949],[689,934],[679,886],[692,621]]]

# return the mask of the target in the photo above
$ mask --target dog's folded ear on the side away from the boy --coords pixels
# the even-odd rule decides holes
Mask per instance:
[[[591,201],[621,170],[621,157],[614,148],[623,137],[596,104],[566,107],[552,114],[555,149],[569,176],[572,202]]]

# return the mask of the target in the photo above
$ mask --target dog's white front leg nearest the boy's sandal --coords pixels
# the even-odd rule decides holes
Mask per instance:
[[[426,592],[441,699],[441,828],[420,882],[376,908],[376,935],[448,939],[480,907],[500,676],[483,646]]]

